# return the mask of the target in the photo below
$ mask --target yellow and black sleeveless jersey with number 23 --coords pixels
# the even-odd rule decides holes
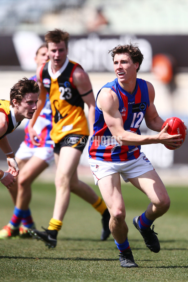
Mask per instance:
[[[50,95],[53,116],[50,137],[55,143],[71,133],[89,135],[84,102],[72,82],[72,75],[77,66],[80,65],[67,58],[55,78],[50,76],[51,61],[41,69],[41,81]]]

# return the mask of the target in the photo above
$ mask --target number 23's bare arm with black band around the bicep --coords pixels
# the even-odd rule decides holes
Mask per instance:
[[[82,96],[82,100],[87,104],[89,108],[88,112],[88,120],[89,120],[89,127],[90,127],[90,135],[93,134],[93,124],[95,122],[95,98],[93,95],[91,82],[89,79],[88,74],[81,69],[80,67],[77,67],[76,70],[73,73],[73,83],[76,86],[78,92]],[[89,94],[85,95],[91,91]]]

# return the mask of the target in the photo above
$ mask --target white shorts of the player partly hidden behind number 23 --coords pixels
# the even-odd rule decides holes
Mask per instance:
[[[48,165],[50,165],[50,163],[54,160],[54,148],[29,148],[23,141],[20,144],[19,149],[15,154],[15,157],[18,159],[30,159],[32,156],[38,157],[39,159],[44,160]]]

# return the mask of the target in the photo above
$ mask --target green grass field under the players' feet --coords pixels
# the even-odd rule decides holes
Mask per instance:
[[[97,186],[92,185],[99,194]],[[128,240],[139,268],[120,267],[118,249],[112,239],[100,241],[101,216],[88,203],[71,195],[62,230],[55,249],[34,239],[0,240],[0,281],[39,282],[153,282],[188,281],[188,188],[167,187],[170,210],[155,221],[161,250],[155,254],[145,247],[132,224],[149,201],[129,184],[122,186],[126,205]],[[12,216],[13,204],[8,191],[0,185],[0,227]],[[35,182],[31,202],[38,229],[48,227],[55,199],[54,184]]]

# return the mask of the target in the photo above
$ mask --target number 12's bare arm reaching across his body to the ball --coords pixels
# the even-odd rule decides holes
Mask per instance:
[[[166,130],[159,132],[157,135],[138,135],[125,131],[123,128],[123,120],[118,110],[119,101],[117,95],[109,88],[102,88],[97,98],[97,106],[102,110],[105,122],[110,129],[112,135],[122,141],[123,145],[145,145],[145,144],[171,144],[176,145],[178,134],[173,137]],[[157,118],[157,116],[155,116]],[[174,139],[177,138],[177,139]]]

